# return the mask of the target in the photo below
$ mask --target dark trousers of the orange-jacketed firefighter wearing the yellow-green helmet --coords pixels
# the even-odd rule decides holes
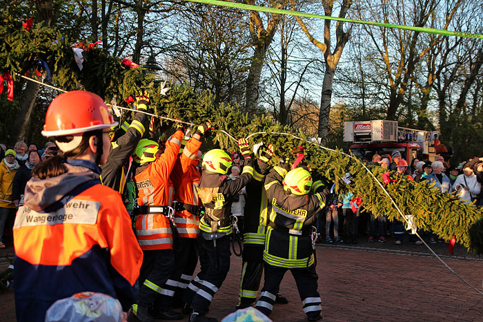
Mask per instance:
[[[166,281],[175,269],[172,250],[144,250],[139,272],[139,305],[151,307],[158,294],[167,294]]]

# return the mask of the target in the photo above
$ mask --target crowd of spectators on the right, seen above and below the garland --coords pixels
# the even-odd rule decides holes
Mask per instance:
[[[415,182],[427,182],[433,184],[433,188],[441,192],[453,192],[463,203],[475,202],[475,205],[483,205],[483,158],[473,157],[459,165],[450,166],[444,157],[437,155],[435,161],[413,159],[408,164],[402,158],[400,151],[394,150],[391,154],[374,154],[368,157],[366,163],[380,166],[388,170],[388,176],[404,175]],[[428,235],[430,243],[442,242],[432,232],[422,232],[413,223],[413,216],[406,215],[406,221],[388,221],[384,214],[375,216],[371,212],[364,212],[354,202],[354,197],[346,195],[337,197],[335,194],[327,202],[326,217],[319,217],[317,231],[325,239],[319,238],[318,242],[333,243],[357,243],[358,237],[366,237],[368,243],[379,241],[386,243],[388,237],[393,237],[396,245],[401,245],[405,235],[408,235],[408,242],[415,245],[422,245],[417,237]],[[362,201],[364,203],[364,201]],[[352,207],[351,207],[352,204]],[[342,205],[342,207],[337,207]],[[356,226],[356,227],[355,227]],[[333,232],[331,228],[333,227]],[[342,228],[342,235],[339,228]],[[359,239],[360,240],[360,239]]]

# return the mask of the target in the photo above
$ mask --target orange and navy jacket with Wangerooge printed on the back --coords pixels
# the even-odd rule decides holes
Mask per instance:
[[[143,252],[119,192],[97,184],[53,212],[25,205],[13,234],[19,321],[43,321],[52,303],[78,292],[109,294],[124,310],[137,299]]]

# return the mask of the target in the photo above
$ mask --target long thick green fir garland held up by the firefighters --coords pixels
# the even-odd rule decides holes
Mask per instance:
[[[178,118],[198,124],[211,121],[215,128],[208,137],[205,150],[219,145],[228,151],[237,151],[237,143],[230,139],[224,130],[235,138],[248,137],[252,133],[266,132],[250,137],[251,144],[272,143],[275,147],[274,163],[278,159],[293,162],[292,148],[302,145],[306,149],[306,163],[315,176],[321,177],[330,186],[336,183],[339,194],[351,191],[361,197],[364,208],[375,216],[386,215],[389,219],[402,219],[384,190],[374,180],[359,161],[348,157],[340,150],[324,150],[309,143],[302,132],[296,135],[301,139],[277,133],[291,133],[290,128],[275,122],[267,115],[248,116],[239,112],[238,106],[214,104],[210,92],[196,93],[186,85],[171,86],[168,95],[159,94],[160,83],[142,68],[128,68],[118,57],[112,57],[92,48],[83,52],[86,61],[79,70],[74,61],[72,39],[66,39],[41,23],[34,24],[30,31],[22,28],[21,22],[0,14],[6,21],[0,26],[0,66],[15,73],[24,74],[34,68],[37,59],[48,62],[52,71],[52,83],[66,90],[90,90],[106,101],[113,97],[118,105],[140,89],[148,89],[152,94],[155,112],[164,117]],[[84,43],[86,45],[86,43]],[[17,89],[15,89],[17,90]],[[15,92],[17,93],[17,92]],[[295,134],[295,133],[294,133]],[[351,185],[340,180],[346,172],[351,173]],[[371,172],[382,182],[382,168],[371,167]],[[433,230],[444,239],[456,237],[458,243],[472,252],[483,254],[483,214],[473,204],[461,203],[455,194],[442,194],[427,183],[415,183],[400,179],[386,186],[403,214],[412,214],[418,228]]]

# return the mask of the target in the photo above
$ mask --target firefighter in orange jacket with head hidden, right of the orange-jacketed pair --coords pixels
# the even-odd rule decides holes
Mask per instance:
[[[186,142],[182,152],[180,150],[175,168],[171,172],[170,178],[175,186],[174,221],[179,238],[175,250],[175,271],[166,281],[166,285],[161,291],[163,296],[159,299],[159,305],[163,308],[161,311],[168,310],[173,302],[177,307],[182,306],[183,292],[188,287],[198,263],[199,215],[203,210],[196,190],[201,178],[201,173],[198,170],[201,159],[199,147],[201,146],[201,137],[210,129],[212,129],[212,126],[209,122],[197,127],[196,132]],[[176,299],[173,299],[175,294],[177,294]],[[166,319],[162,314],[153,314],[153,316],[158,319]],[[181,317],[179,315],[180,319]]]

